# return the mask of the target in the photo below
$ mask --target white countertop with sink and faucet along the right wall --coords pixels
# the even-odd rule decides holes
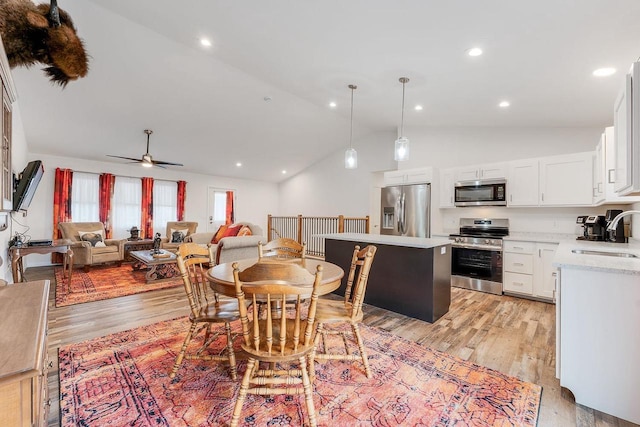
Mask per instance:
[[[603,252],[605,255],[588,252],[576,253],[580,251],[597,251]],[[636,258],[606,255],[606,253],[633,254]],[[640,243],[637,241],[631,243],[563,241],[558,245],[553,265],[560,268],[580,268],[640,275]]]

